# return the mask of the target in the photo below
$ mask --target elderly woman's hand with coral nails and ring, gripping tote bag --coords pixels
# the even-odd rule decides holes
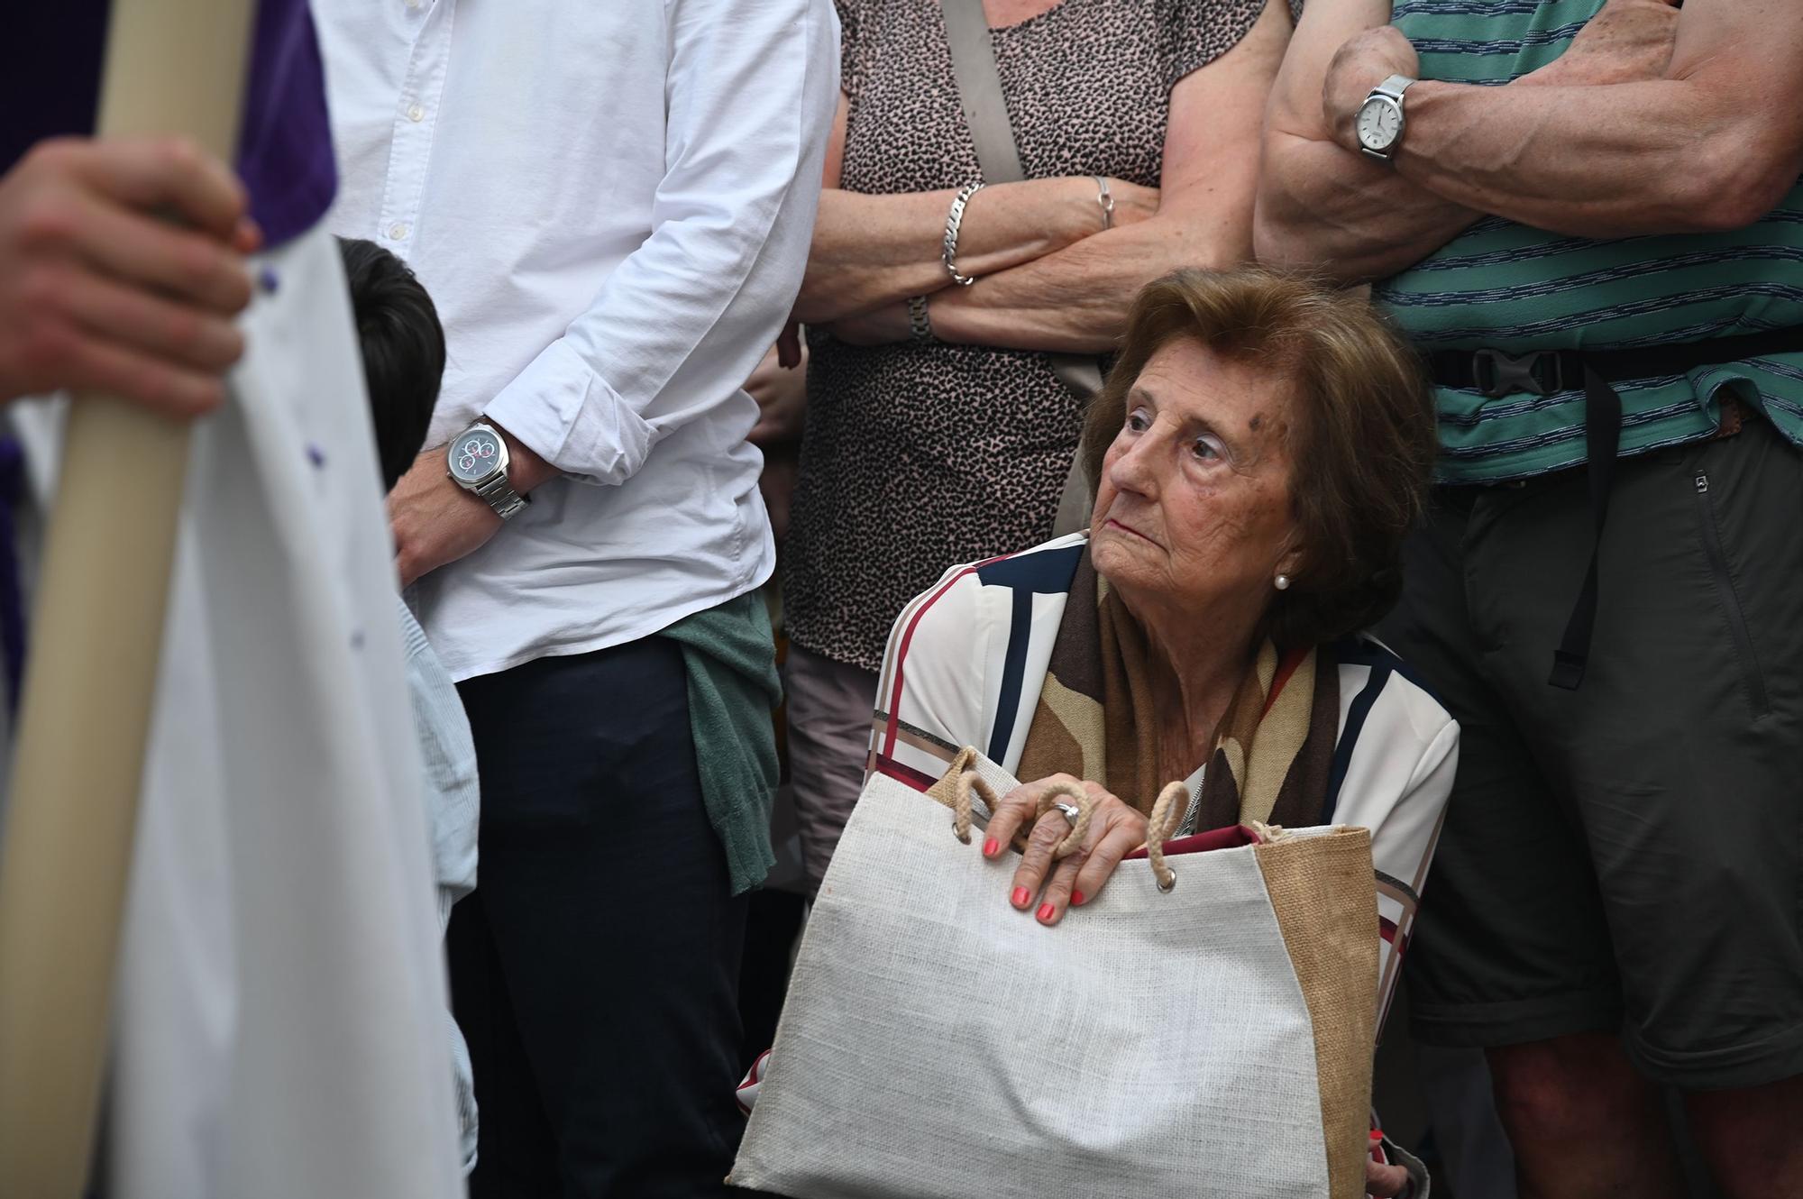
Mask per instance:
[[[1055,860],[1053,851],[1071,835],[1071,822],[1057,808],[1042,817],[1037,815],[1040,797],[1058,783],[1075,783],[1094,801],[1089,835],[1082,847],[1064,860]],[[983,856],[999,856],[1015,833],[1028,826],[1033,831],[1028,833],[1026,849],[1020,853],[1008,902],[1022,912],[1033,911],[1039,923],[1055,925],[1064,918],[1066,907],[1073,903],[1082,907],[1094,900],[1121,858],[1145,844],[1147,819],[1100,784],[1057,773],[1024,783],[995,804]]]

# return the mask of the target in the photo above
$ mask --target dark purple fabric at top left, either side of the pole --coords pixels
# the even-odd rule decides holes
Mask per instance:
[[[9,4],[0,36],[0,171],[45,137],[92,133],[106,0]],[[261,0],[238,173],[269,245],[319,222],[337,191],[325,72],[307,0]]]

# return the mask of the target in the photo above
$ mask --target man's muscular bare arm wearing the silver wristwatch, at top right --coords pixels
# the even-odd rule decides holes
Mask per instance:
[[[1664,78],[1408,90],[1403,178],[1536,229],[1608,238],[1738,229],[1803,171],[1803,4],[1689,0]],[[1376,79],[1329,78],[1329,103]],[[1363,83],[1363,90],[1361,88]],[[1341,146],[1350,121],[1336,128]],[[1354,142],[1356,146],[1356,142]]]

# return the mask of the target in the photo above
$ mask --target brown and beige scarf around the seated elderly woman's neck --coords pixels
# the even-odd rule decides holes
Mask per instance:
[[[1150,813],[1159,777],[1145,629],[1084,554],[1033,709],[1019,777],[1071,773]],[[1215,730],[1190,828],[1320,822],[1334,741],[1340,673],[1320,647],[1278,653],[1268,638]]]

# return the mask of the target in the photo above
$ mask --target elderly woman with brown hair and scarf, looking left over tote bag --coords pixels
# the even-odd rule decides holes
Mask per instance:
[[[1459,745],[1408,667],[1359,635],[1397,597],[1433,454],[1415,361],[1361,299],[1179,272],[1134,303],[1082,453],[1087,532],[956,568],[903,609],[873,770],[925,790],[975,746],[1031,779],[983,853],[1017,860],[997,891],[1046,927],[1082,918],[1172,779],[1192,792],[1188,829],[1363,826],[1381,1011]],[[993,467],[972,451],[966,469]],[[1033,824],[1035,804],[1071,779],[1096,808],[1055,864],[1069,824],[1057,810]],[[1372,1194],[1405,1183],[1370,1168]]]

